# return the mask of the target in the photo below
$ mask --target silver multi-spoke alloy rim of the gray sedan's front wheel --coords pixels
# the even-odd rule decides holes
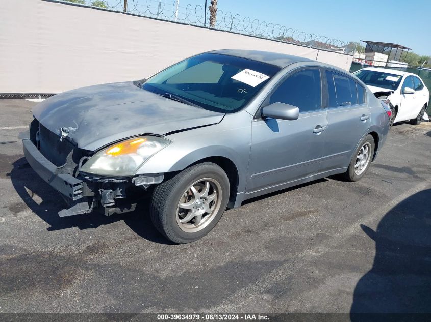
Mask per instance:
[[[176,222],[185,232],[196,232],[207,227],[215,218],[222,198],[217,180],[203,178],[191,184],[178,202]]]

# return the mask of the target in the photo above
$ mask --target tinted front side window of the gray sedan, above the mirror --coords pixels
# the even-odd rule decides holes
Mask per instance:
[[[305,69],[286,78],[266,102],[285,103],[299,107],[299,112],[310,112],[322,107],[319,69]]]

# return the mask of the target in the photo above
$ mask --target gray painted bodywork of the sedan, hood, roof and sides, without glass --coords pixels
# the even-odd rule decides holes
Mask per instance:
[[[181,171],[199,160],[211,157],[230,160],[238,172],[236,179],[231,178],[236,181],[237,189],[231,196],[230,207],[240,206],[243,200],[251,197],[344,172],[361,139],[370,132],[375,132],[379,142],[376,148],[381,148],[390,128],[389,118],[378,99],[356,77],[350,75],[364,85],[367,91],[367,105],[353,107],[350,110],[352,113],[344,112],[345,107],[343,107],[306,113],[308,115],[300,114],[298,120],[294,121],[262,120],[259,115],[259,107],[273,87],[288,73],[308,66],[327,67],[343,74],[347,73],[332,65],[289,55],[244,50],[215,52],[254,58],[274,65],[278,64],[277,66],[283,67],[283,69],[268,81],[261,92],[243,110],[226,114],[224,118],[224,114],[221,113],[183,105],[160,96],[156,98],[154,94],[149,95],[138,87],[132,88],[132,83],[86,87],[85,93],[81,93],[82,89],[64,93],[62,95],[67,95],[64,98],[58,96],[58,109],[50,107],[53,100],[51,102],[46,100],[46,104],[35,109],[35,116],[37,119],[41,118],[38,120],[43,125],[49,125],[50,129],[59,133],[57,129],[71,124],[70,120],[74,120],[75,112],[72,111],[69,114],[68,123],[65,123],[66,115],[63,114],[57,118],[56,110],[61,110],[61,106],[64,104],[71,108],[77,99],[88,101],[88,106],[78,109],[82,110],[86,117],[79,119],[82,123],[71,137],[80,142],[81,147],[89,150],[96,150],[114,140],[131,135],[168,133],[167,138],[173,143],[148,159],[136,174]],[[124,113],[124,116],[119,114],[116,108],[109,108],[108,112],[104,113],[104,106],[111,102],[110,99],[93,98],[97,95],[108,94],[107,92],[110,90],[105,89],[104,86],[111,86],[112,91],[121,91],[118,93],[118,97],[115,97],[115,93],[113,93],[117,104],[109,103],[110,106],[126,102],[122,96],[130,97],[131,102],[122,105],[125,110],[121,110],[121,114]],[[95,93],[92,93],[93,91]],[[145,94],[140,96],[137,91]],[[142,99],[131,98],[134,95]],[[148,98],[151,98],[151,103],[154,104],[149,109],[150,112],[146,112],[148,111],[146,109]],[[129,113],[128,107],[131,107],[133,112]],[[97,112],[93,113],[91,108],[97,108]],[[181,113],[176,113],[176,108],[180,109]],[[46,111],[47,109],[48,111]],[[353,126],[353,122],[360,122],[359,119],[356,120],[358,115],[367,110],[370,118],[365,123],[361,121],[358,126]],[[51,119],[49,111],[52,118],[56,120]],[[328,113],[334,115],[328,117]],[[85,122],[91,122],[88,116],[98,120],[93,124],[85,124]],[[107,120],[108,118],[117,118],[117,123]],[[150,122],[146,121],[147,118]],[[336,124],[330,124],[329,119]],[[107,122],[112,127],[103,129]],[[213,125],[195,128],[209,124]],[[314,134],[312,131],[317,125],[327,126],[327,131],[323,131],[319,135]],[[337,129],[337,127],[340,128]],[[192,129],[174,132],[188,128]],[[331,128],[333,130],[329,131]],[[352,129],[355,130],[352,131]],[[102,134],[99,134],[98,131]],[[169,134],[169,132],[174,133]],[[345,132],[348,133],[344,135]],[[347,137],[348,143],[340,140],[340,133]],[[97,135],[97,139],[87,138],[91,135]],[[337,157],[334,158],[334,156]],[[331,163],[331,160],[334,161],[334,164]]]

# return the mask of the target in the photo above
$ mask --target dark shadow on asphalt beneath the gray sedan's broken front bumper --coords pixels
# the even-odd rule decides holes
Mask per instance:
[[[81,230],[97,228],[124,220],[137,235],[149,241],[170,244],[154,228],[145,207],[121,215],[104,216],[98,212],[59,217],[58,212],[67,207],[61,195],[45,183],[30,167],[25,158],[13,162],[13,168],[8,173],[15,191],[30,210],[50,225],[48,231],[77,227]]]

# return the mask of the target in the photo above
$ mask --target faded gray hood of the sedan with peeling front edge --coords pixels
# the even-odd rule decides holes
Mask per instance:
[[[41,125],[79,148],[97,150],[111,142],[140,135],[219,123],[224,113],[176,102],[145,91],[133,82],[83,87],[39,103],[33,109]]]

